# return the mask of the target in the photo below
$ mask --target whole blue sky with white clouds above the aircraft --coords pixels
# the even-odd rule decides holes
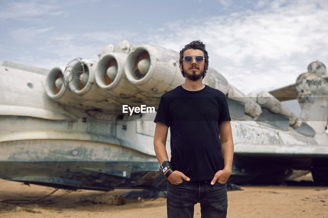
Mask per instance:
[[[294,84],[328,64],[327,0],[0,1],[0,62],[51,69],[126,39],[180,51],[201,40],[243,93]]]

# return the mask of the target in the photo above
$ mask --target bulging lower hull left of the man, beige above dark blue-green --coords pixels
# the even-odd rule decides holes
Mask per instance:
[[[120,145],[77,140],[0,143],[1,178],[66,189],[166,187],[158,166],[156,157]]]

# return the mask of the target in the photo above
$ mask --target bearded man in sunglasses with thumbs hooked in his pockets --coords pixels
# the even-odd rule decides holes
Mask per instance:
[[[224,93],[202,83],[208,69],[205,45],[193,41],[180,51],[185,82],[162,95],[154,135],[154,149],[168,179],[169,218],[226,217],[226,181],[231,175],[234,145]],[[171,131],[171,161],[165,144]]]

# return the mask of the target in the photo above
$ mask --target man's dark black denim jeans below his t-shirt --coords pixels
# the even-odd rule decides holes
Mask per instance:
[[[167,187],[167,217],[193,218],[194,206],[200,203],[201,217],[227,217],[228,198],[227,183],[211,180],[187,182],[179,185],[168,182]]]

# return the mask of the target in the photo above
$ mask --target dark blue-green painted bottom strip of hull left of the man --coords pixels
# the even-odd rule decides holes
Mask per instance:
[[[165,189],[155,169],[158,162],[1,162],[0,177],[63,189]]]

